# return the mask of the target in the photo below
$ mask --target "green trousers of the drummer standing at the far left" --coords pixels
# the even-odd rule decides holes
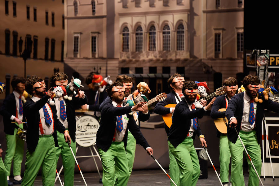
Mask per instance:
[[[23,128],[23,124],[19,125]],[[18,129],[15,128],[14,135],[6,134],[7,150],[4,159],[4,165],[6,167],[7,176],[11,175],[11,162],[14,162],[13,175],[20,175],[21,163],[24,153],[24,141],[21,138],[16,137]]]

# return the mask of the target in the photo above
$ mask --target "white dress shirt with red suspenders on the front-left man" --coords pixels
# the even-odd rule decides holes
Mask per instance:
[[[36,103],[41,98],[33,96],[31,99],[33,100],[33,102]],[[51,125],[46,124],[46,119],[45,119],[44,111],[43,111],[42,108],[39,110],[40,119],[41,119],[41,122],[42,122],[42,128],[43,128],[43,131],[44,131],[44,135],[51,135],[53,133],[53,130],[54,130],[52,111],[51,111],[51,108],[49,107],[49,105],[47,103],[45,104],[45,106],[46,106],[47,112],[48,112],[48,114],[49,114],[49,116],[51,117],[51,120],[52,120]],[[41,131],[40,131],[40,127],[38,129],[39,129],[39,135],[42,135]]]

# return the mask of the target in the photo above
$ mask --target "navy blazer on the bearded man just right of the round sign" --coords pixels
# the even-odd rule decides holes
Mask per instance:
[[[100,105],[101,108],[101,119],[100,119],[100,128],[97,131],[96,135],[96,145],[98,148],[104,150],[105,152],[109,149],[113,141],[113,136],[116,128],[116,117],[126,114],[129,118],[127,129],[132,133],[138,143],[146,149],[149,147],[144,136],[140,132],[139,127],[135,123],[133,115],[129,115],[131,112],[131,106],[126,107],[114,107],[111,99],[105,99]],[[125,149],[127,146],[127,135],[128,130],[125,132],[124,144]]]

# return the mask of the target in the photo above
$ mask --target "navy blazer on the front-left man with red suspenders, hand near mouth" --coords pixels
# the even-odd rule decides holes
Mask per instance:
[[[25,112],[27,125],[28,125],[27,134],[26,134],[26,143],[27,143],[27,149],[30,152],[33,152],[36,149],[39,141],[39,123],[40,123],[39,110],[47,103],[47,100],[49,98],[50,97],[45,95],[42,97],[42,99],[38,100],[36,103],[32,99],[30,99],[23,106],[23,111]],[[55,147],[58,147],[56,130],[63,134],[66,129],[57,118],[56,107],[51,105],[49,106],[52,110],[52,115],[53,115],[54,143],[55,143]]]

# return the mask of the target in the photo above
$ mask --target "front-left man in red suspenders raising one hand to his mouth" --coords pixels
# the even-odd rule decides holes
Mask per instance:
[[[24,104],[27,119],[27,153],[22,186],[31,186],[42,167],[42,185],[54,185],[57,133],[64,133],[66,141],[71,142],[69,132],[66,131],[56,115],[55,106],[47,103],[54,94],[49,89],[46,92],[42,78],[31,76],[25,83],[26,91],[33,97]]]

